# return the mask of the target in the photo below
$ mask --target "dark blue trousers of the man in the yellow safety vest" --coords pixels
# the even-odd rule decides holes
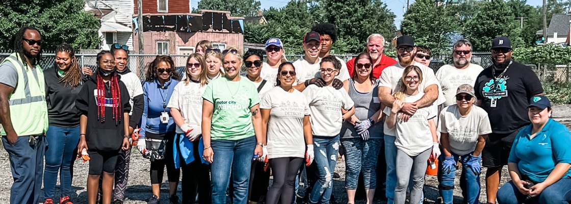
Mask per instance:
[[[14,145],[2,136],[2,145],[10,157],[10,170],[14,183],[10,188],[10,203],[36,204],[42,190],[43,156],[46,153],[46,137],[41,135],[34,146],[30,137],[18,137]]]

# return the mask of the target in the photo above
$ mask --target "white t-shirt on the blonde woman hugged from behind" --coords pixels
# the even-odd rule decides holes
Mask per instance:
[[[424,93],[407,95],[405,102],[412,103],[422,98]],[[385,107],[384,114],[391,115],[391,107]],[[399,113],[400,115],[401,113]],[[428,127],[428,120],[435,118],[438,114],[436,105],[423,107],[416,110],[416,113],[407,122],[400,122],[397,115],[395,146],[404,151],[409,156],[416,156],[432,148],[432,133]],[[436,122],[436,119],[435,119]],[[386,124],[386,122],[385,122]]]

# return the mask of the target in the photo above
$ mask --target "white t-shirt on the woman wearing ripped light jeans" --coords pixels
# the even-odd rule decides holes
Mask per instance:
[[[303,94],[311,110],[311,131],[317,136],[336,136],[341,132],[343,114],[341,108],[351,109],[355,103],[345,89],[331,86],[309,85]]]

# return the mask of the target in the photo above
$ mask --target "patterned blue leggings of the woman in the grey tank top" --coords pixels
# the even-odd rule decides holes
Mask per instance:
[[[363,171],[365,189],[377,188],[377,157],[383,139],[341,139],[345,147],[345,189],[357,189],[359,173]]]

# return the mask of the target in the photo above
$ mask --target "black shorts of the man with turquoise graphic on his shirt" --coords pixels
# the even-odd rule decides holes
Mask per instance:
[[[524,127],[520,127],[512,133],[490,133],[482,150],[482,166],[494,168],[507,165],[513,139]]]

